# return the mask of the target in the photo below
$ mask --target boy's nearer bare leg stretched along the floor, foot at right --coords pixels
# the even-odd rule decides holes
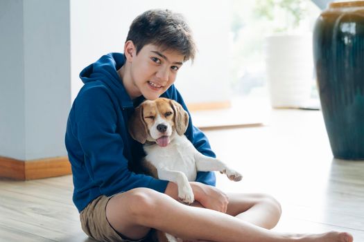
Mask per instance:
[[[236,242],[352,242],[347,233],[281,234],[214,210],[186,206],[166,194],[138,188],[110,199],[106,216],[114,229],[140,239],[149,227],[179,238]]]

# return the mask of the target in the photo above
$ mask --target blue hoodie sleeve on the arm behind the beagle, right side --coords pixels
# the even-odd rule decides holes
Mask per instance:
[[[184,103],[182,95],[180,94],[179,91],[177,91],[174,85],[172,85],[165,94],[166,94],[164,95],[165,97],[177,101],[182,105],[183,109],[186,110],[187,113],[189,113],[189,110],[187,109],[187,105]],[[205,136],[205,133],[202,133],[200,129],[193,126],[191,113],[189,113],[189,127],[187,127],[187,131],[184,134],[192,142],[193,146],[198,151],[200,151],[200,153],[204,154],[205,156],[216,158],[214,151],[211,150],[209,140]],[[199,171],[197,174],[196,181],[204,183],[206,185],[215,186],[216,176],[213,171]]]

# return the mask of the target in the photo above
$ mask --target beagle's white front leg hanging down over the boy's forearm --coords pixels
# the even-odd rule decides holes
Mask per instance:
[[[187,176],[181,171],[171,171],[170,169],[163,167],[158,168],[158,178],[162,180],[169,180],[177,184],[178,198],[183,203],[191,204],[195,200],[191,185]]]

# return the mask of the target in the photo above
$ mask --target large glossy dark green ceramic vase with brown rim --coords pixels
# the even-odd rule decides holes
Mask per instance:
[[[313,56],[335,158],[364,160],[364,1],[335,1],[318,17]]]

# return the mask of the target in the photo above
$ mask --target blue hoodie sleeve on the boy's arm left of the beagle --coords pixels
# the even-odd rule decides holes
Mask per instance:
[[[106,89],[86,90],[78,97],[74,108],[75,135],[84,153],[85,168],[101,194],[111,196],[135,187],[164,192],[166,180],[135,174],[128,169],[128,160],[123,155],[123,138],[116,125],[118,117]]]

